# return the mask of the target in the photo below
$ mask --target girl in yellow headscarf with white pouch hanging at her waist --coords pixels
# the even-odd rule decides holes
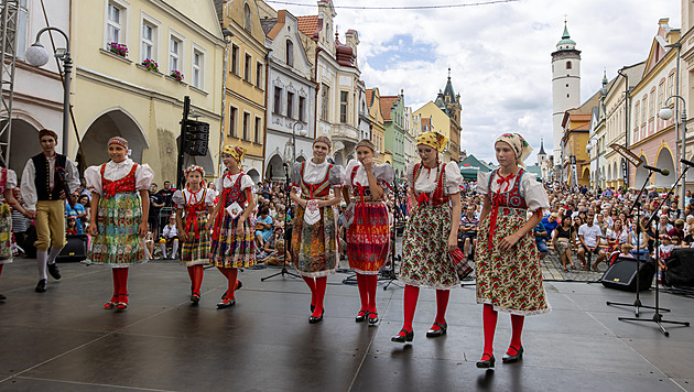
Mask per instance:
[[[256,241],[251,215],[256,209],[253,181],[241,171],[246,149],[226,145],[221,150],[221,161],[227,167],[215,183],[220,192],[209,221],[214,222],[212,258],[214,264],[227,277],[227,292],[217,308],[236,305],[234,291],[237,285],[238,269],[256,265]]]

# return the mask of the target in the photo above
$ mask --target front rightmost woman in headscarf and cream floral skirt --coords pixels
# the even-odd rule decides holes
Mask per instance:
[[[532,148],[518,133],[503,133],[495,143],[499,168],[479,173],[477,192],[484,196],[477,243],[477,303],[484,304],[485,349],[478,368],[494,368],[497,312],[511,314],[511,344],[505,363],[522,359],[521,334],[525,315],[550,312],[532,229],[550,207],[547,194],[523,160]],[[532,216],[528,218],[528,213]]]

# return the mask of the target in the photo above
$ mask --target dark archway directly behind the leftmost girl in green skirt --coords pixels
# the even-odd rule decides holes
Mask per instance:
[[[130,157],[135,162],[142,162],[142,150],[148,148],[142,129],[122,109],[113,109],[94,120],[82,137],[82,151],[85,153],[84,159],[87,166],[99,165],[109,161],[106,143],[113,137],[128,140],[128,146],[132,152]],[[78,157],[77,162],[79,161]],[[207,167],[200,166],[207,171]]]

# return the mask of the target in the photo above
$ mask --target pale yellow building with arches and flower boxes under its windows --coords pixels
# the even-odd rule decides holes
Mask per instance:
[[[86,164],[107,162],[106,142],[120,135],[130,142],[135,162],[152,166],[160,186],[175,182],[183,99],[189,96],[197,120],[209,123],[210,151],[186,164],[215,175],[224,41],[213,0],[71,4],[71,31],[79,32],[71,36],[73,105]],[[156,62],[158,69],[148,69],[145,59]],[[181,81],[170,76],[174,70],[183,75]],[[69,156],[77,154],[71,132]]]

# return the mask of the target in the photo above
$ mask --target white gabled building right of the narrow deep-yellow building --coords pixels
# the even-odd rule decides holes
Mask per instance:
[[[260,22],[270,50],[264,173],[265,178],[283,181],[282,164],[293,162],[292,131],[296,140],[295,159],[305,161],[312,156],[316,84],[311,80],[311,61],[302,45],[303,33],[296,17],[280,10],[276,18]]]

